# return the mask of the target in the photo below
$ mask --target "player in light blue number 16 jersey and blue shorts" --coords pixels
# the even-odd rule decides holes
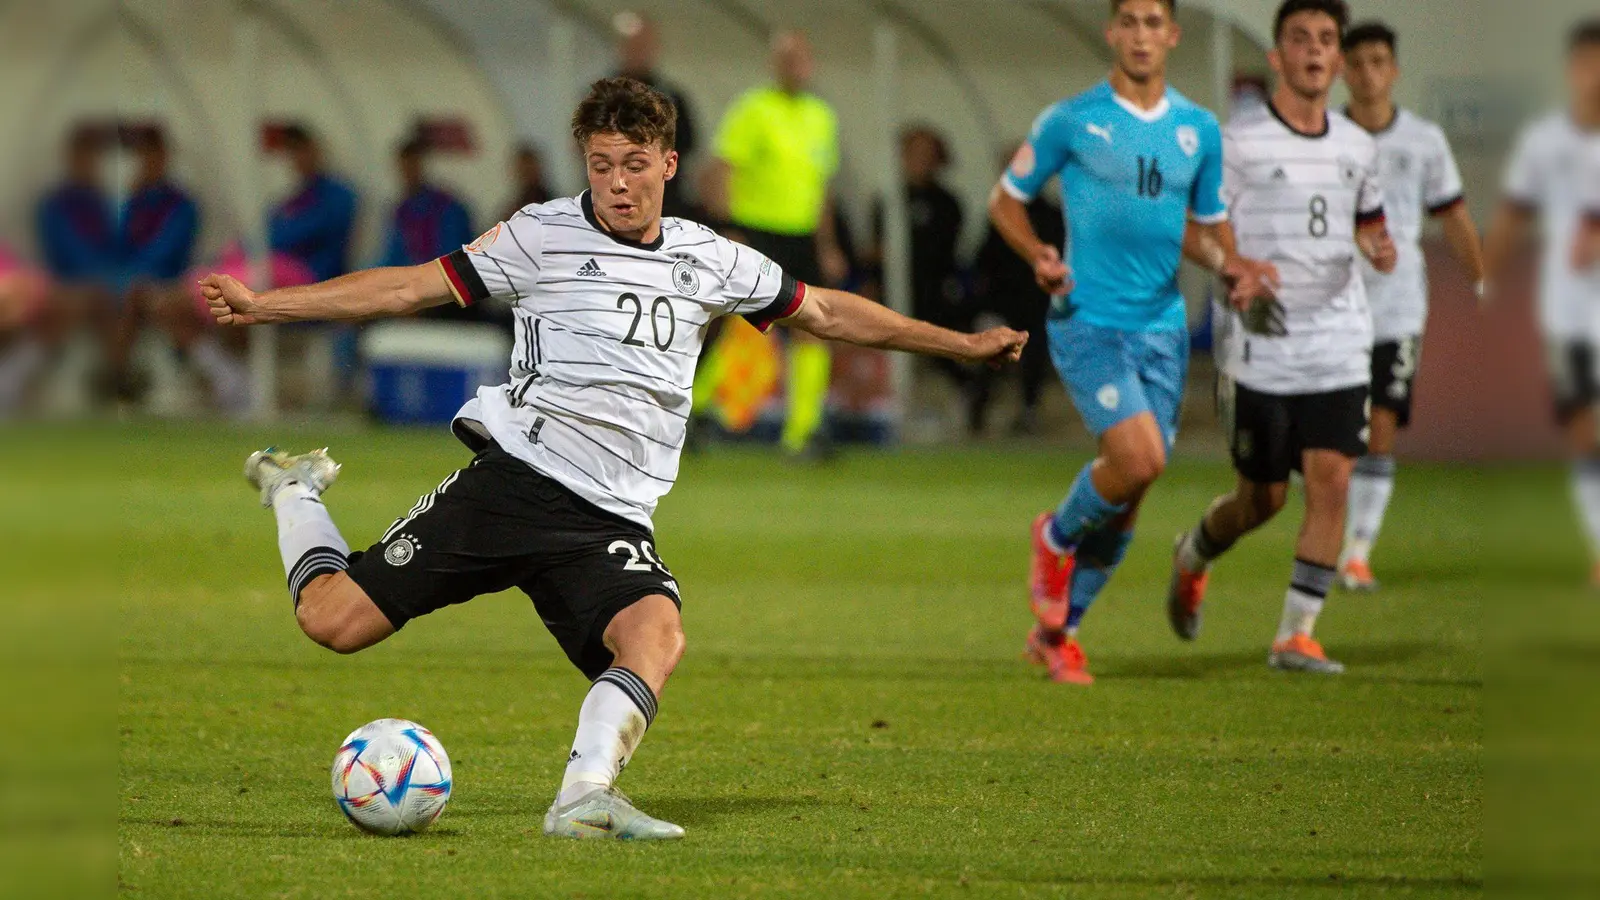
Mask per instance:
[[[1046,109],[989,203],[1006,242],[1053,295],[1050,352],[1099,440],[1054,512],[1034,522],[1029,655],[1059,682],[1090,684],[1078,623],[1133,540],[1146,490],[1166,466],[1189,364],[1178,291],[1184,255],[1267,293],[1270,266],[1234,250],[1216,117],[1166,86],[1176,0],[1110,0],[1106,82]],[[1061,176],[1066,256],[1034,232],[1029,203]]]

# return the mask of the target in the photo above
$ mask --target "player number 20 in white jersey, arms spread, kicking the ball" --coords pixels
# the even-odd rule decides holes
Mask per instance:
[[[339,471],[325,452],[264,450],[245,474],[277,512],[296,620],[323,647],[365,650],[480,594],[520,588],[533,599],[594,681],[546,834],[683,836],[613,785],[683,653],[682,594],[651,514],[678,474],[706,325],[782,320],[830,341],[989,364],[1016,360],[1027,340],[1010,328],[962,335],[808,287],[704,226],[662,219],[675,120],[672,101],[640,82],[595,82],[573,115],[582,195],[523,207],[422,266],[264,293],[227,275],[202,282],[226,325],[514,304],[510,383],[480,389],[453,424],[477,456],[368,551],[349,551],[322,503]]]

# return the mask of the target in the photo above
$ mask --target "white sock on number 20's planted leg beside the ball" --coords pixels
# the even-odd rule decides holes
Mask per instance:
[[[600,673],[578,709],[578,733],[555,804],[565,807],[594,790],[610,788],[654,721],[656,693],[645,679],[622,666]]]

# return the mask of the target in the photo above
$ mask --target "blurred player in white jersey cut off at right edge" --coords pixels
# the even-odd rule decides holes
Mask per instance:
[[[1530,123],[1506,168],[1504,199],[1485,239],[1490,285],[1504,277],[1538,219],[1539,327],[1573,464],[1573,500],[1592,549],[1592,583],[1600,588],[1600,439],[1595,372],[1600,271],[1574,259],[1582,223],[1582,160],[1600,139],[1600,19],[1578,24],[1568,40],[1570,106]]]

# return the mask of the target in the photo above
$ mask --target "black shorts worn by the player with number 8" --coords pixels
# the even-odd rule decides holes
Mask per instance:
[[[1365,384],[1323,394],[1262,394],[1222,381],[1219,397],[1234,469],[1256,484],[1283,484],[1301,471],[1307,450],[1366,455],[1370,429]]]

